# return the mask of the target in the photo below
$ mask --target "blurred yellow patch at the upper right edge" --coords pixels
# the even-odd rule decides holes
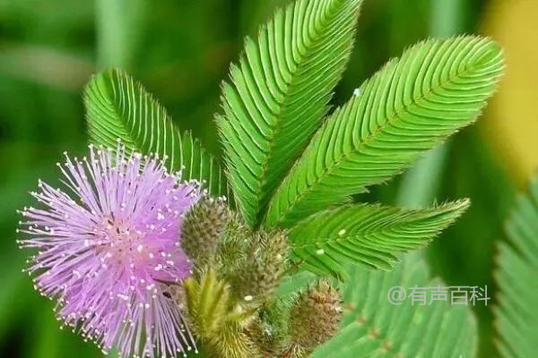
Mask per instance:
[[[519,183],[538,168],[538,0],[495,0],[485,33],[499,41],[506,76],[482,129]]]

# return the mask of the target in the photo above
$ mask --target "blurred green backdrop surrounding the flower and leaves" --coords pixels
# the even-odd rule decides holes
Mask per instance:
[[[507,11],[524,3],[531,9],[512,13],[518,21],[508,26]],[[532,91],[530,86],[522,89],[510,65],[518,68],[528,62],[518,63],[521,56],[533,56],[536,50],[525,48],[525,36],[538,31],[522,30],[519,47],[508,40],[508,32],[514,26],[535,28],[529,15],[532,6],[538,12],[537,3],[365,0],[355,51],[336,89],[334,105],[349,98],[389,57],[421,38],[485,31],[499,37],[502,45],[507,41],[506,81],[513,88],[499,92],[490,113],[482,118],[486,125],[460,132],[411,174],[359,198],[417,206],[470,197],[473,208],[428,249],[434,272],[449,285],[488,285],[494,294],[494,243],[503,237],[502,221],[516,188],[537,163],[534,141],[519,141],[517,132],[503,132],[503,125],[519,121],[516,127],[528,137],[526,125],[538,125],[538,110],[526,116],[521,106],[516,118],[508,118],[510,96],[519,98],[522,91],[523,95]],[[101,355],[93,345],[58,329],[53,303],[35,294],[30,278],[21,273],[26,252],[17,249],[14,234],[19,219],[15,209],[30,202],[28,192],[38,178],[55,182],[54,164],[61,153],[85,148],[82,89],[91,73],[109,66],[125,68],[161,100],[181,128],[195,132],[220,155],[213,125],[220,82],[230,61],[238,58],[242,38],[256,35],[257,25],[282,4],[282,0],[0,0],[0,357]],[[527,38],[534,44],[536,39]],[[529,71],[525,76],[538,78],[536,69]],[[536,102],[531,106],[535,108]],[[494,355],[490,312],[490,307],[476,310],[483,357]]]

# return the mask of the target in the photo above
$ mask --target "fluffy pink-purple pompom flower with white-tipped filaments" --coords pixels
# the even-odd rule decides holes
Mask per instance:
[[[200,197],[158,158],[93,149],[60,166],[66,192],[39,181],[42,209],[22,211],[23,248],[39,252],[30,274],[57,299],[65,324],[107,353],[172,356],[195,349],[170,285],[190,275],[182,218]]]

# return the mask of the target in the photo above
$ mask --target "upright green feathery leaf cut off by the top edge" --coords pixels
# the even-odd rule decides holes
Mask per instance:
[[[247,38],[217,116],[231,189],[257,226],[327,113],[351,53],[360,0],[299,0]]]

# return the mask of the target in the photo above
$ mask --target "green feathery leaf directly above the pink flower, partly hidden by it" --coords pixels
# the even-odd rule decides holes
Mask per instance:
[[[221,167],[190,132],[179,132],[166,110],[140,83],[125,72],[94,76],[84,92],[88,132],[93,143],[167,156],[170,171],[182,169],[182,179],[204,183],[211,194],[229,196]]]

